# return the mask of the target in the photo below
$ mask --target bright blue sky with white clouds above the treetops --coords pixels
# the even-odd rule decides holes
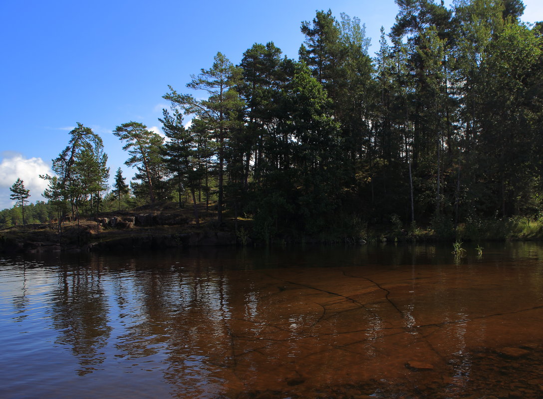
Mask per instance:
[[[541,0],[524,3],[524,21],[543,20]],[[188,92],[190,75],[209,68],[219,51],[238,63],[252,44],[273,41],[296,58],[301,22],[329,8],[365,23],[370,54],[397,11],[394,0],[1,2],[0,209],[11,207],[17,177],[31,201],[42,199],[37,175],[48,172],[77,122],[104,140],[111,175],[121,166],[130,178],[111,133],[117,125],[158,129],[168,85]]]

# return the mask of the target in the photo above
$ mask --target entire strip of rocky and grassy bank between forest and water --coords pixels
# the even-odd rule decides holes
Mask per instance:
[[[400,224],[368,228],[363,225],[356,235],[341,231],[323,231],[320,235],[263,237],[255,230],[254,220],[232,217],[224,212],[223,223],[217,223],[216,210],[205,211],[199,224],[190,207],[179,208],[175,202],[144,205],[132,210],[101,213],[92,218],[71,221],[67,218],[47,223],[30,223],[0,229],[0,253],[26,252],[111,252],[199,246],[266,246],[266,245],[361,245],[377,243],[438,243],[456,241],[539,241],[543,239],[543,223],[525,217],[507,220],[474,220],[421,229],[406,229]],[[480,246],[479,246],[480,247]]]

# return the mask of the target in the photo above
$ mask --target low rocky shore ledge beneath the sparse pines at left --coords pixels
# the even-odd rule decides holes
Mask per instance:
[[[94,220],[28,224],[0,230],[0,252],[104,252],[198,246],[233,246],[232,231],[196,226],[184,215],[119,214]],[[245,239],[248,243],[250,239]]]

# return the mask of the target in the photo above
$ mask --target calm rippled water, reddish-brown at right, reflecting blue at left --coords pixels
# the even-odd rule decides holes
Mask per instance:
[[[543,397],[543,246],[484,247],[0,258],[0,397]]]

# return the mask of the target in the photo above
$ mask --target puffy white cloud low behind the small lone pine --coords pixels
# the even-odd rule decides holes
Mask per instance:
[[[0,209],[11,208],[9,188],[17,178],[24,182],[24,187],[30,190],[31,202],[44,200],[42,192],[47,188],[47,182],[39,175],[53,175],[49,165],[41,158],[24,158],[20,153],[5,151],[0,154]]]

